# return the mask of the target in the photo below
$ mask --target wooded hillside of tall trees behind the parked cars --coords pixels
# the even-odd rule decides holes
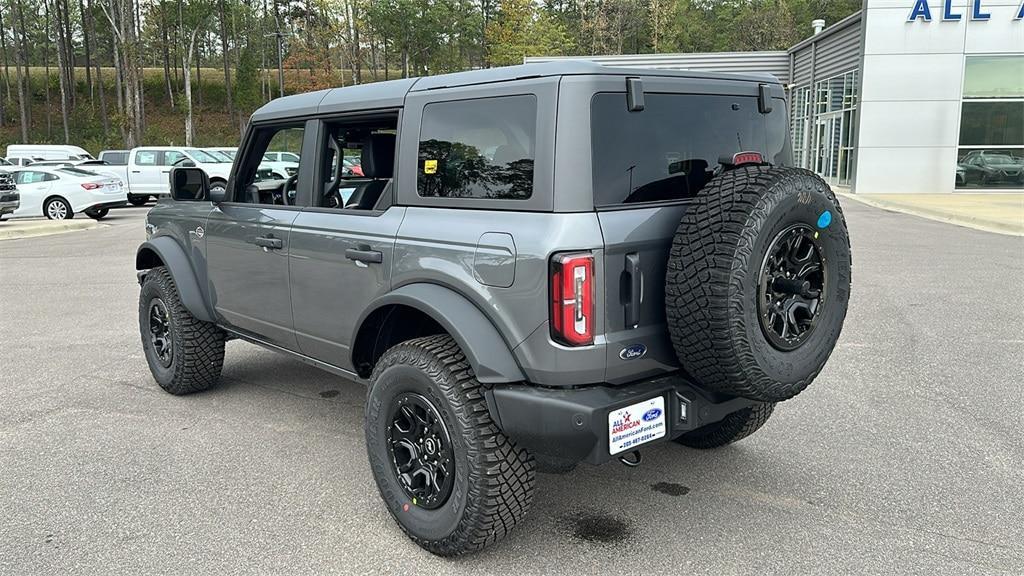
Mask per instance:
[[[526,55],[783,49],[810,34],[812,19],[830,24],[859,7],[860,0],[0,0],[0,146],[231,143],[248,115],[283,92],[519,64]]]

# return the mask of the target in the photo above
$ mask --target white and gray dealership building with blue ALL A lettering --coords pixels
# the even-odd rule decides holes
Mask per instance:
[[[1021,0],[866,0],[809,28],[784,51],[587,59],[774,74],[795,162],[854,193],[1024,192]]]

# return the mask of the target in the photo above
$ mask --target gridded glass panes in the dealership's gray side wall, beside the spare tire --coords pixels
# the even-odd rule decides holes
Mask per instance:
[[[817,82],[814,94],[814,140],[807,167],[834,184],[850,186],[857,127],[857,71]]]

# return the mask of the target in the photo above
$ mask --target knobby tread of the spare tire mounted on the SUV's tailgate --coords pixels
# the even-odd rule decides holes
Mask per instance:
[[[771,195],[793,175],[810,176],[846,219],[835,194],[819,176],[802,168],[743,166],[716,176],[680,220],[669,255],[666,313],[669,333],[683,368],[705,387],[765,402],[785,400],[806,388],[824,366],[798,382],[772,380],[756,366],[750,346],[737,346],[745,332],[741,300],[746,274],[740,254],[754,250],[756,235],[768,217]],[[849,238],[847,237],[849,248]],[[848,250],[849,251],[849,250]]]

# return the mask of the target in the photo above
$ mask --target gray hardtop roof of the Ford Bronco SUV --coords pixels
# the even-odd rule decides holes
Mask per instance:
[[[771,74],[733,74],[726,72],[695,72],[690,70],[660,70],[646,68],[607,67],[584,59],[566,59],[549,63],[524,64],[501,68],[488,68],[403,78],[359,84],[341,88],[328,88],[315,92],[295,94],[270,100],[255,113],[254,122],[280,120],[314,114],[343,113],[373,109],[400,108],[410,92],[454,88],[477,84],[509,82],[526,78],[545,78],[573,75],[602,76],[658,76],[670,78],[695,78],[711,80],[740,80],[748,82],[778,84]]]

